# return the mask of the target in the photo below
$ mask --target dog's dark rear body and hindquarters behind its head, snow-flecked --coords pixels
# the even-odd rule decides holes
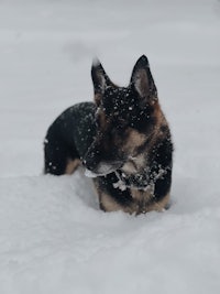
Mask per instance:
[[[44,140],[44,172],[70,174],[96,137],[96,106],[81,102],[66,109],[52,123]]]

